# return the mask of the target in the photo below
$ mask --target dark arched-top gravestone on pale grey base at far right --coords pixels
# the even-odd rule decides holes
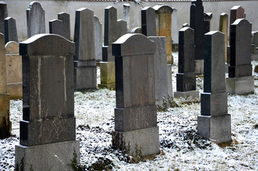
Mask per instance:
[[[230,66],[226,80],[227,93],[254,93],[251,65],[252,24],[247,19],[237,19],[230,26]]]

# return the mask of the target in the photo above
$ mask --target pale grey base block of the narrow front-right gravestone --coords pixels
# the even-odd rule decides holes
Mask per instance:
[[[231,141],[231,115],[198,116],[198,134],[217,143]]]

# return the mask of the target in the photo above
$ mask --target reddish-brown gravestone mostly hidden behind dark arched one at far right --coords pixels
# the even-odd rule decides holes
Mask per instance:
[[[231,24],[233,24],[237,19],[244,19],[244,9],[242,6],[233,6],[232,9],[230,9],[230,27]],[[230,28],[231,29],[231,28]],[[230,33],[231,37],[231,33]],[[230,45],[231,45],[231,38],[229,40],[229,46],[227,46],[227,63],[230,63]]]

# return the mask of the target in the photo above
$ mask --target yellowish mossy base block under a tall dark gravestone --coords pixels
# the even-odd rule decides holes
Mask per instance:
[[[115,75],[114,75],[114,62],[100,62],[100,84],[99,88],[108,88],[114,90]]]

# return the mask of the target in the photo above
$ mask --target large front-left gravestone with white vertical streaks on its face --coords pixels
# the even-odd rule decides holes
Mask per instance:
[[[16,170],[72,170],[75,140],[73,56],[75,43],[38,34],[19,43],[23,70],[23,120]],[[80,163],[80,158],[77,161]]]

